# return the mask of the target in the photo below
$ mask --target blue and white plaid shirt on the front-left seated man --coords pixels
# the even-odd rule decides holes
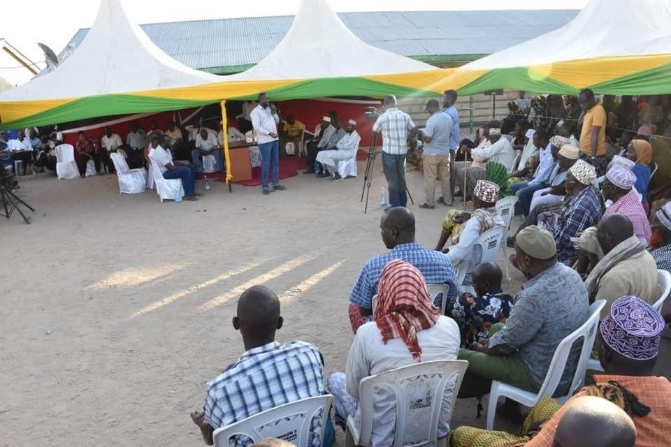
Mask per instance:
[[[317,347],[273,342],[243,353],[208,383],[205,420],[215,429],[288,402],[324,394],[324,366]],[[321,420],[312,420],[312,444],[319,445]],[[316,434],[316,438],[315,438]],[[253,444],[242,437],[238,446]]]

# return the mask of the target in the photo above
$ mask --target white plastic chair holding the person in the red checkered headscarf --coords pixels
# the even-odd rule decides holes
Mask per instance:
[[[442,418],[449,424],[461,379],[466,372],[466,360],[437,360],[391,369],[366,377],[359,383],[361,425],[354,417],[347,418],[346,446],[370,446],[375,414],[375,391],[391,388],[396,400],[396,423],[393,447],[436,446],[438,423]],[[445,393],[452,393],[447,414],[442,411]]]

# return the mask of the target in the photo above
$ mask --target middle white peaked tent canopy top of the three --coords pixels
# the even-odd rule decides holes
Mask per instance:
[[[328,1],[301,0],[291,28],[275,49],[249,70],[226,80],[332,78],[437,69],[372,47],[340,21]]]

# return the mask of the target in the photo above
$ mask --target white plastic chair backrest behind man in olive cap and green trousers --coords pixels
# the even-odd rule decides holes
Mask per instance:
[[[587,321],[564,337],[558,344],[557,349],[554,351],[554,356],[552,356],[545,380],[538,391],[539,399],[541,397],[552,397],[554,395],[559,386],[559,382],[561,381],[561,376],[564,373],[566,361],[568,360],[573,343],[581,338],[582,348],[580,349],[580,357],[578,358],[578,363],[575,372],[573,373],[571,387],[569,388],[568,395],[561,397],[570,397],[582,388],[585,380],[585,372],[587,370],[587,360],[589,360],[592,346],[594,346],[594,339],[596,338],[596,328],[598,328],[599,325],[599,316],[601,314],[601,309],[605,305],[605,300],[593,302],[589,307],[589,318],[587,318]]]

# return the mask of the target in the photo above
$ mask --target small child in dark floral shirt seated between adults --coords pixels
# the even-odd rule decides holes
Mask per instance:
[[[473,270],[475,294],[462,293],[448,303],[445,314],[452,316],[461,331],[461,347],[489,338],[493,324],[505,323],[514,304],[512,296],[503,293],[503,273],[495,263],[482,263]]]

